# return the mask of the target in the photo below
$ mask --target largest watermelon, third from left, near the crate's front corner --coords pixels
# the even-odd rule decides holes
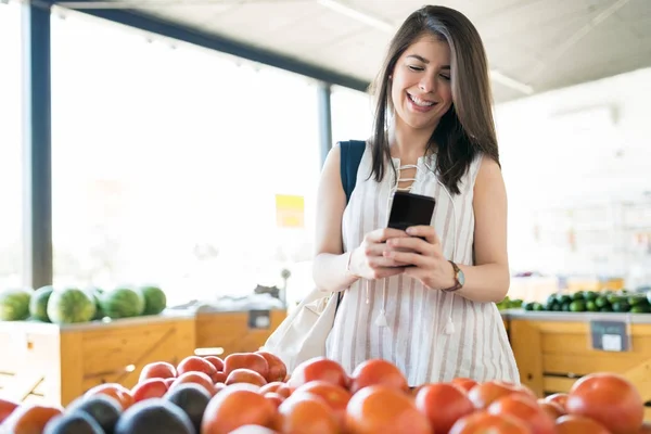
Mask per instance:
[[[71,324],[92,320],[94,301],[86,291],[77,288],[55,290],[48,302],[48,317],[56,324]]]

